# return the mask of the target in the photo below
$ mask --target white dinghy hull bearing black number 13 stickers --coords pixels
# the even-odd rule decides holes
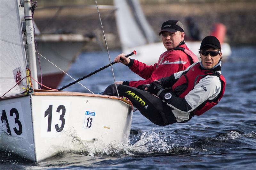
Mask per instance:
[[[131,105],[120,98],[109,98],[75,92],[35,92],[0,100],[0,148],[40,161],[61,151],[75,150],[73,138],[76,143],[127,143]],[[3,121],[5,115],[10,132]]]

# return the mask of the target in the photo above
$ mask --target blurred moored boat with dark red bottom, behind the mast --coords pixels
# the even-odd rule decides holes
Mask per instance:
[[[42,29],[41,32],[40,29],[36,26],[36,23],[34,22],[38,52],[41,55],[45,56],[47,59],[49,59],[52,63],[56,64],[60,69],[62,69],[65,72],[68,72],[72,63],[76,61],[77,56],[81,53],[81,51],[84,50],[88,42],[91,42],[95,39],[95,36],[92,34],[83,35],[81,33],[77,33],[76,27],[74,26],[74,22],[66,23],[66,28],[59,29],[59,27],[56,27],[56,24],[54,24],[54,21],[56,20],[56,18],[58,18],[59,20],[63,19],[63,16],[58,17],[59,14],[61,12],[69,13],[69,9],[91,10],[95,8],[95,5],[58,5],[37,8],[36,14],[37,12],[38,14],[42,14],[44,12],[47,13],[49,12],[48,10],[57,11],[54,15],[49,17],[48,20],[44,20],[46,21],[46,24],[43,28],[40,28]],[[107,10],[114,9],[113,6],[109,5],[99,5],[99,8]],[[77,16],[77,18],[79,17],[81,16]],[[79,23],[78,20],[77,23]],[[52,24],[55,27],[53,26],[54,28],[50,29]],[[68,30],[66,30],[67,27],[72,27],[72,29],[69,28]],[[45,31],[45,29],[47,31]],[[57,88],[65,73],[57,67],[55,67],[54,65],[49,64],[49,62],[43,57],[39,56],[39,58],[41,65],[39,64],[39,61],[36,60],[37,75],[39,81],[41,81],[42,71],[43,84],[50,88]],[[42,87],[42,89],[45,88]]]

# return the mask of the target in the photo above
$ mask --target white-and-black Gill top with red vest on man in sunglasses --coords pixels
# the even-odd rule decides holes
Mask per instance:
[[[197,62],[184,71],[159,80],[164,88],[172,88],[173,95],[166,102],[174,108],[172,113],[177,122],[186,122],[193,115],[202,115],[218,104],[226,86],[220,72],[221,62],[219,64],[213,70],[205,70]]]

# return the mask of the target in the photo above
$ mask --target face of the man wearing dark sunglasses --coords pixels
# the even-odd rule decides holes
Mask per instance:
[[[211,51],[218,51],[218,49],[214,49],[214,48],[208,48],[207,50],[205,50],[206,52],[211,52]],[[208,55],[203,55],[203,52],[201,52],[200,54],[200,58],[202,60],[202,64],[204,66],[204,68],[206,69],[211,69],[212,67],[214,67],[216,64],[219,63],[220,57],[222,55],[222,53],[216,55],[216,56],[212,56],[210,53]]]

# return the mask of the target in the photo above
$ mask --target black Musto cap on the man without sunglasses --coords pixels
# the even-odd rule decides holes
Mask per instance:
[[[158,35],[161,35],[161,33],[163,33],[163,31],[167,31],[170,33],[175,33],[177,31],[184,32],[184,28],[180,21],[168,20],[162,24],[161,31],[159,32]]]

